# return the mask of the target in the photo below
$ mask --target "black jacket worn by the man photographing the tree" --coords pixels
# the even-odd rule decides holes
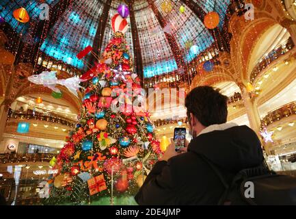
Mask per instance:
[[[191,140],[187,153],[155,164],[135,196],[137,203],[217,205],[224,186],[200,155],[226,172],[227,177],[259,166],[264,160],[260,140],[247,126],[203,133]]]

